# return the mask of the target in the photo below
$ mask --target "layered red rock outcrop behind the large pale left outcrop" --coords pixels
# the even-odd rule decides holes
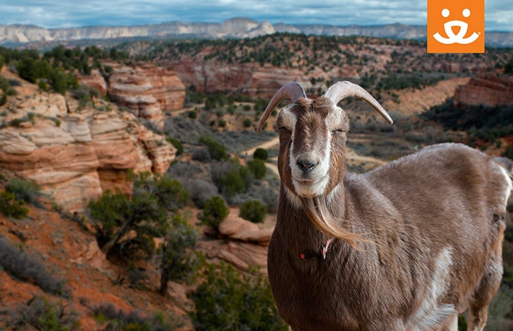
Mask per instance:
[[[185,87],[173,71],[152,64],[110,65],[114,70],[107,82],[110,99],[157,128],[164,128],[164,110],[184,105]]]

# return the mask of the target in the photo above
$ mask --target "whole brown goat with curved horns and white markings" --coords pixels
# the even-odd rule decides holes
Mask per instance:
[[[282,86],[280,199],[268,275],[280,317],[294,331],[483,330],[502,278],[502,239],[513,162],[460,144],[425,147],[365,174],[346,172],[356,97],[390,124],[359,85],[338,82],[310,99]],[[512,177],[513,178],[513,177]]]

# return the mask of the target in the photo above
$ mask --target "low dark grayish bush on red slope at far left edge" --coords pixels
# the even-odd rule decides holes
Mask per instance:
[[[64,280],[53,277],[39,259],[11,246],[4,236],[0,236],[0,266],[14,278],[36,284],[46,293],[71,297]]]

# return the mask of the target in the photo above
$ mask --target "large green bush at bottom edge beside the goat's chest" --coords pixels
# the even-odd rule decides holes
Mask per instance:
[[[286,331],[278,316],[269,285],[258,271],[240,275],[233,266],[209,265],[205,281],[191,294],[196,331]]]

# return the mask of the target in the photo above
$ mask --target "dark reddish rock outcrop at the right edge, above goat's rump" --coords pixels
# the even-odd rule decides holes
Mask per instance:
[[[455,90],[455,105],[513,105],[513,80],[494,75],[472,78]]]

